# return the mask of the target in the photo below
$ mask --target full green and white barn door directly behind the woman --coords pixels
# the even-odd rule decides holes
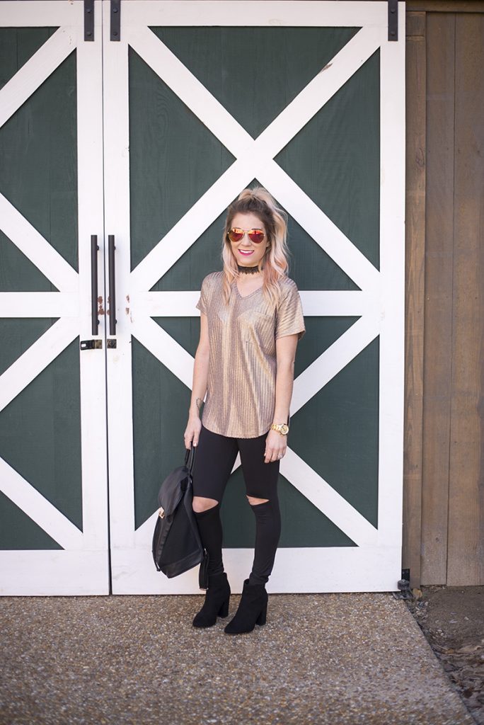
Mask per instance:
[[[183,456],[196,301],[226,207],[260,183],[290,218],[307,333],[281,463],[272,592],[396,589],[404,422],[404,3],[123,0],[104,11],[107,349],[115,593],[196,592],[150,558]],[[254,521],[236,465],[222,506],[235,591]]]

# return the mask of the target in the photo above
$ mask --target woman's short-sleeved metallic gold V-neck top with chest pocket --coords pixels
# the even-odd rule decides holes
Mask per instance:
[[[209,326],[209,375],[202,423],[213,433],[256,438],[269,431],[275,409],[275,341],[304,335],[296,283],[280,281],[278,304],[256,289],[242,297],[235,281],[228,304],[223,273],[204,278],[197,307]],[[284,421],[280,421],[284,422]]]

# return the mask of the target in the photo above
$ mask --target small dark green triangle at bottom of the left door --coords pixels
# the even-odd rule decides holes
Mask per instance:
[[[60,544],[1,492],[0,512],[1,550],[62,549]]]

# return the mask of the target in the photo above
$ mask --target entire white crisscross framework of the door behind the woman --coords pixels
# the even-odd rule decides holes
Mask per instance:
[[[112,496],[112,571],[114,593],[190,593],[198,591],[196,570],[168,580],[154,570],[151,534],[156,512],[134,528],[133,437],[130,381],[130,335],[191,385],[193,361],[151,316],[198,315],[199,292],[151,292],[151,286],[169,270],[203,231],[225,210],[254,175],[267,186],[296,221],[320,244],[359,291],[303,291],[306,315],[361,315],[345,334],[325,350],[294,384],[291,413],[300,410],[372,340],[380,335],[380,462],[378,529],[341,494],[324,481],[292,450],[281,472],[317,508],[339,526],[356,547],[280,549],[270,579],[272,592],[388,591],[397,589],[401,569],[401,460],[403,451],[403,339],[404,339],[404,3],[399,3],[401,41],[388,43],[387,8],[368,2],[249,2],[125,0],[121,43],[105,46],[105,146],[111,163],[107,170],[107,224],[122,236],[117,289],[122,320],[118,349],[108,355],[109,451],[114,478]],[[104,4],[104,19],[109,9]],[[338,25],[362,30],[327,64],[298,99],[255,141],[183,67],[149,25]],[[104,32],[107,33],[107,25]],[[193,204],[154,249],[130,273],[128,45],[153,68],[202,123],[236,158],[233,165]],[[381,268],[377,270],[359,249],[327,218],[296,183],[275,163],[274,156],[335,94],[339,87],[380,48],[382,67],[382,220]],[[396,90],[398,89],[398,90]],[[396,99],[396,103],[393,100]],[[115,128],[114,128],[115,125]],[[398,146],[397,162],[395,144]],[[383,158],[384,157],[384,158]],[[256,173],[255,173],[256,172]],[[385,202],[385,203],[383,203]],[[383,209],[383,207],[385,208]],[[396,228],[398,227],[398,230]],[[113,233],[109,231],[109,233]],[[126,248],[124,245],[127,245]],[[385,252],[383,252],[385,247]],[[398,251],[396,251],[398,247]],[[122,400],[117,390],[126,391]],[[109,402],[109,398],[112,401]],[[383,450],[384,449],[384,450]],[[234,468],[237,467],[237,463]],[[115,492],[115,493],[114,493]],[[120,502],[124,502],[120,505]],[[233,591],[240,591],[252,550],[226,550],[225,562]],[[291,575],[288,576],[288,571]]]

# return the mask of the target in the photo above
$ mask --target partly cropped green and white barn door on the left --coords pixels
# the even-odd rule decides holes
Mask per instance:
[[[104,336],[99,23],[85,42],[82,2],[0,4],[2,595],[109,592],[105,350],[80,349]]]

